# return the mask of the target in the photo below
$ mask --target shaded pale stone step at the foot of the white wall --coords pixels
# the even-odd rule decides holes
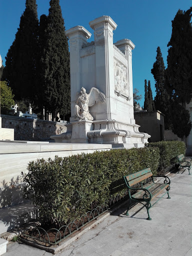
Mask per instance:
[[[38,210],[30,202],[0,209],[0,234],[10,231],[31,219],[37,218]]]

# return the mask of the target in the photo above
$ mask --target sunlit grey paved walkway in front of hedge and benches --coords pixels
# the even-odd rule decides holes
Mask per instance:
[[[110,215],[56,255],[59,256],[191,256],[192,175],[188,171],[169,174],[170,197],[166,195],[151,209],[137,204],[125,216],[125,208]],[[138,210],[138,211],[137,211]],[[137,213],[135,214],[135,211]],[[49,252],[12,242],[5,256],[49,256]]]

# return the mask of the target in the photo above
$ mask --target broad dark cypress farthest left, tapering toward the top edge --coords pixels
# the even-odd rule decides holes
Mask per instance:
[[[36,0],[26,0],[15,39],[5,57],[2,79],[19,100],[36,95],[36,53],[38,18]]]

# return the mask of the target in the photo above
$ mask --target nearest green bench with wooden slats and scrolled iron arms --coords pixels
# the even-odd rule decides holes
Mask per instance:
[[[154,177],[162,177],[164,180],[161,183],[157,183],[155,182]],[[147,182],[149,179],[150,181]],[[124,176],[124,181],[127,185],[129,196],[128,208],[125,213],[126,215],[129,215],[128,210],[132,204],[140,202],[146,207],[148,214],[147,219],[151,220],[149,216],[149,209],[166,193],[168,195],[167,198],[170,198],[168,194],[168,190],[170,189],[170,179],[167,176],[154,176],[150,168],[126,175]],[[159,195],[164,189],[166,192],[163,193],[161,197],[158,198],[153,204],[151,204],[150,201]]]

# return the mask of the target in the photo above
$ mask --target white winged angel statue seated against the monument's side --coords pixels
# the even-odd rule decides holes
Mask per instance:
[[[79,121],[84,119],[93,120],[92,115],[89,113],[89,106],[93,106],[95,103],[99,102],[105,102],[105,95],[101,91],[92,87],[87,94],[86,89],[81,87],[74,106],[76,119]]]

